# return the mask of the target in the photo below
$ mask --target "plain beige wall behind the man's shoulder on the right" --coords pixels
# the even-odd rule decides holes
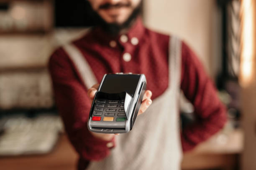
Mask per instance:
[[[220,27],[215,0],[144,0],[145,24],[182,37],[197,53],[205,69],[215,75],[212,60],[220,58]],[[219,59],[218,59],[219,60]]]

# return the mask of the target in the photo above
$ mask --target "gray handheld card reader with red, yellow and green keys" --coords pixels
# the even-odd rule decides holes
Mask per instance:
[[[129,132],[145,90],[144,74],[105,74],[92,101],[88,129],[97,133]]]

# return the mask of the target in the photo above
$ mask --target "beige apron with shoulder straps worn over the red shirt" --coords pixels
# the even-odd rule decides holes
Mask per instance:
[[[178,97],[180,94],[181,41],[177,37],[171,37],[169,44],[169,86],[166,91],[153,100],[146,112],[137,117],[133,130],[115,137],[116,147],[111,150],[108,157],[100,161],[91,161],[86,170],[180,169],[182,151]],[[77,67],[81,64],[79,66],[76,63],[83,63],[83,67],[84,64],[87,65],[84,71],[82,68],[77,68],[77,70],[80,75],[86,75],[81,77],[85,77],[84,85],[90,88],[97,83],[93,72],[86,61],[79,62],[81,58],[84,60],[82,54],[79,54],[78,50],[71,53],[70,48],[72,47],[69,49],[65,47],[65,50],[74,64]],[[80,57],[74,57],[79,55]]]

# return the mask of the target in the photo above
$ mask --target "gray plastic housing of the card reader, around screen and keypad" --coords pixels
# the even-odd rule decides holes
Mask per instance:
[[[133,87],[133,89],[136,89],[133,94],[129,94],[125,89],[120,90],[118,93],[108,93],[106,91],[102,92],[101,88],[103,83],[105,82],[106,76],[138,76],[138,83],[136,84],[129,84],[129,86]],[[113,82],[115,83],[115,82]],[[122,89],[122,88],[120,88]],[[138,115],[139,108],[141,107],[141,102],[143,99],[144,92],[146,90],[146,76],[144,74],[105,74],[102,78],[102,81],[100,83],[98,91],[95,93],[95,97],[92,102],[89,120],[88,120],[88,129],[92,132],[96,133],[127,133],[129,132],[135,123],[136,117]],[[103,121],[102,119],[100,121],[93,121],[93,112],[94,107],[96,105],[97,99],[106,99],[106,100],[124,100],[124,112],[126,120],[123,122],[108,122]],[[105,107],[104,107],[105,108]],[[105,112],[103,111],[102,115]],[[117,114],[115,114],[117,115]],[[116,116],[115,116],[116,118]]]

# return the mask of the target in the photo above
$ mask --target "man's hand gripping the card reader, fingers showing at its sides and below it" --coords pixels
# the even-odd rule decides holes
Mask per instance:
[[[99,84],[95,84],[87,92],[87,95],[90,97],[91,103],[95,96],[95,93],[97,92],[98,87],[99,87]],[[145,112],[148,106],[151,105],[152,103],[151,96],[152,96],[152,92],[150,90],[146,90],[142,99],[142,103],[141,103],[141,107],[138,112],[138,115],[141,115],[143,112]],[[114,135],[119,135],[119,134],[94,133],[94,132],[90,132],[90,133],[92,133],[92,135],[95,136],[96,138],[100,138],[102,140],[111,140]]]

